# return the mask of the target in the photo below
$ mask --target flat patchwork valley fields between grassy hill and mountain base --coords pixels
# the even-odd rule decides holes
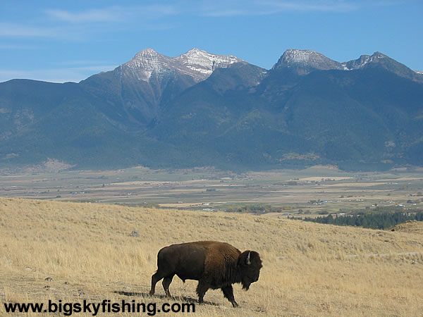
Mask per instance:
[[[270,205],[307,213],[423,206],[423,170],[347,173],[320,166],[235,174],[213,168],[191,170],[27,170],[0,174],[0,197],[90,201],[166,208],[226,210]]]

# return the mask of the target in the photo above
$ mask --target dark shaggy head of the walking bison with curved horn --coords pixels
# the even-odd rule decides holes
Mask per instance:
[[[244,251],[238,258],[241,284],[244,290],[248,290],[252,282],[259,280],[262,260],[256,251]]]

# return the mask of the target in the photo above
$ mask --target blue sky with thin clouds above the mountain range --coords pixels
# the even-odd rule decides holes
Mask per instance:
[[[422,0],[0,2],[0,82],[66,82],[111,70],[151,47],[193,47],[271,68],[286,49],[335,61],[381,51],[423,70]]]

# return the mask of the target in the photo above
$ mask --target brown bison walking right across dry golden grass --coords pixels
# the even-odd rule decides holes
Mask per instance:
[[[238,306],[233,297],[234,283],[241,283],[248,290],[252,282],[259,280],[262,260],[256,251],[243,251],[226,242],[199,241],[172,244],[157,254],[157,272],[152,275],[150,295],[156,283],[163,278],[166,296],[171,297],[169,285],[174,275],[183,280],[198,280],[198,302],[203,302],[209,288],[220,288],[223,296]]]

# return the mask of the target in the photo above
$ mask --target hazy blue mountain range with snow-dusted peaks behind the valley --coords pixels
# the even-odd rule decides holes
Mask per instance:
[[[79,83],[0,83],[0,166],[422,165],[423,74],[376,52],[288,49],[270,70],[153,49]]]

